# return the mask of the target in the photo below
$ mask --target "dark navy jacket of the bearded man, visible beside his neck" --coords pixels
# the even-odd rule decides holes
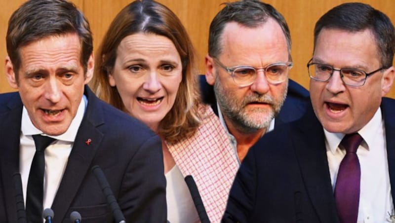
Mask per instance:
[[[203,103],[209,104],[215,114],[218,115],[214,88],[207,83],[205,75],[199,75],[199,85]],[[306,111],[307,105],[310,103],[309,96],[309,91],[300,84],[289,79],[287,97],[280,112],[276,116],[275,128],[280,124],[300,118]]]

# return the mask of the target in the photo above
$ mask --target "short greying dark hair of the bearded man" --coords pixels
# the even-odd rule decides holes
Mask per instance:
[[[284,17],[270,4],[259,0],[240,0],[224,3],[225,7],[218,12],[210,24],[208,35],[208,54],[217,57],[221,54],[221,36],[225,25],[237,22],[249,28],[255,28],[264,24],[268,18],[273,18],[280,25],[287,40],[288,53],[291,57],[291,34]]]

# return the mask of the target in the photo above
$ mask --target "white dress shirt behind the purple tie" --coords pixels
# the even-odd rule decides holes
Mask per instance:
[[[339,149],[339,144],[344,134],[330,133],[325,129],[324,132],[330,178],[334,191],[340,162],[346,155],[345,150]],[[363,141],[356,150],[361,168],[357,222],[388,222],[391,215],[394,215],[395,212],[391,196],[384,121],[380,108],[358,133],[363,138]]]

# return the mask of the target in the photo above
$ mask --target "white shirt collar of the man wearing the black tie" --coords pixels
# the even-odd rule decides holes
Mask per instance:
[[[88,99],[86,98],[85,95],[82,95],[82,100],[79,103],[79,107],[77,110],[76,116],[73,118],[69,128],[65,133],[59,136],[50,136],[51,138],[54,138],[56,140],[61,140],[61,141],[67,141],[67,142],[74,142],[76,136],[77,136],[77,131],[79,129],[79,125],[81,124],[83,115],[86,110],[86,106],[88,104]],[[29,117],[28,111],[26,110],[25,106],[23,106],[23,111],[22,111],[22,126],[21,126],[22,134],[23,135],[46,135],[43,134],[43,132],[36,128],[36,126],[33,125],[32,120]]]

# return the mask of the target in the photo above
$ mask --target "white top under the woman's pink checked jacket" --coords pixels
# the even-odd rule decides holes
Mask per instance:
[[[191,193],[177,165],[165,174],[167,220],[170,223],[198,223]]]

